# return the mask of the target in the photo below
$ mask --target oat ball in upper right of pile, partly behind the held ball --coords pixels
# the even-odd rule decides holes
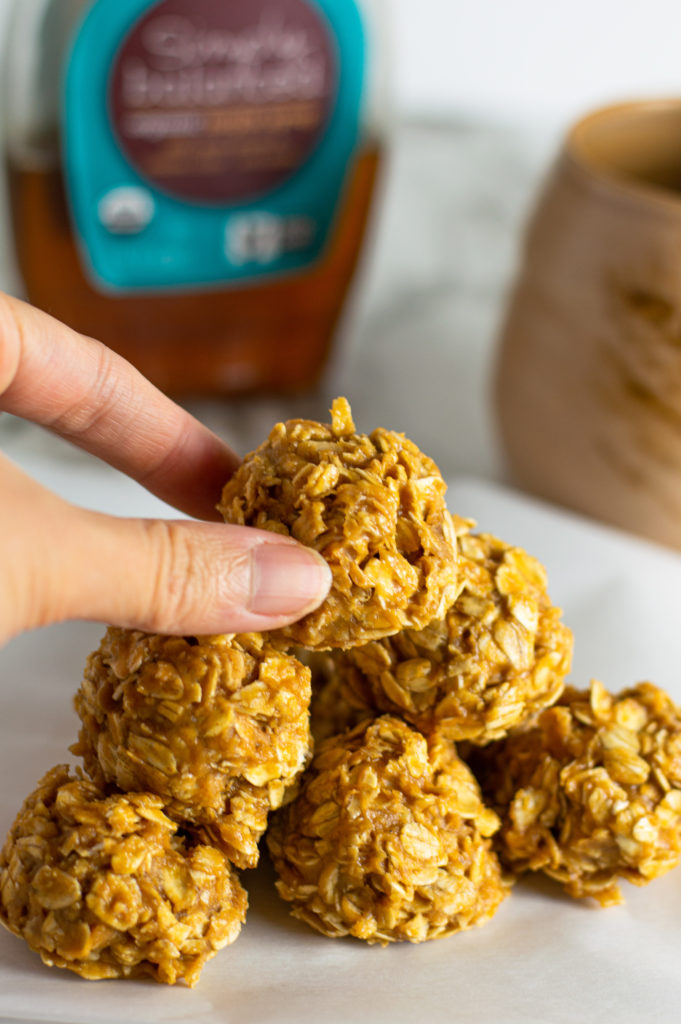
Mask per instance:
[[[424,732],[437,727],[451,739],[485,743],[557,699],[572,635],[551,604],[537,559],[469,532],[470,522],[455,525],[462,590],[453,606],[425,629],[339,655],[338,675],[350,707],[378,708]]]

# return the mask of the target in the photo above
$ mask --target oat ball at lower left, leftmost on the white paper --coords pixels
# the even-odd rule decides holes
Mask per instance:
[[[182,837],[162,806],[53,768],[0,853],[2,923],[83,978],[196,984],[239,935],[247,896],[226,857]]]

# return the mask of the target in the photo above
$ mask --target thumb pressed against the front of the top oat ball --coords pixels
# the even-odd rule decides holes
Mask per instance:
[[[150,633],[261,632],[311,611],[331,584],[320,555],[279,534],[47,500],[50,529],[43,519],[32,531],[14,573],[8,635],[67,618]]]

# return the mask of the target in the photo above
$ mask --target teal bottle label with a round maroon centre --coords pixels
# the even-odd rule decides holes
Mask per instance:
[[[97,0],[62,97],[95,285],[257,282],[317,260],[357,140],[365,48],[353,0]]]

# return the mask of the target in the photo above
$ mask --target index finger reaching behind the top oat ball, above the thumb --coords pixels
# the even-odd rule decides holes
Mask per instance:
[[[220,518],[235,453],[100,342],[1,294],[0,410],[104,459],[188,515]]]

